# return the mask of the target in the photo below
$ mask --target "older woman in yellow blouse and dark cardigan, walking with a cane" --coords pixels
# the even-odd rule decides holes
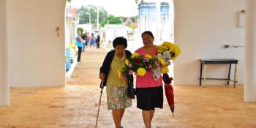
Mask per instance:
[[[118,69],[124,64],[124,60],[132,53],[127,48],[127,39],[116,37],[113,40],[113,48],[108,52],[100,67],[99,78],[107,86],[108,110],[112,110],[116,128],[121,128],[121,118],[125,108],[132,106],[132,99],[127,97],[127,79],[118,78]]]

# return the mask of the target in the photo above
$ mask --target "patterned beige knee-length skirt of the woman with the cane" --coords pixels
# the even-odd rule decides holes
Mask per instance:
[[[118,110],[132,106],[132,99],[127,97],[127,87],[107,86],[108,110]]]

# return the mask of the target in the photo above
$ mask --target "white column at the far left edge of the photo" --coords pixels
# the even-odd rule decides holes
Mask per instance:
[[[7,0],[0,0],[0,106],[10,105],[7,59]]]

